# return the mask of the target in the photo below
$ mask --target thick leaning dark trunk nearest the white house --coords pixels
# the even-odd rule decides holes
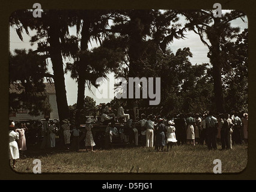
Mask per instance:
[[[59,42],[58,15],[56,11],[50,10],[52,22],[49,25],[50,58],[54,74],[54,84],[56,91],[56,103],[58,106],[59,120],[69,118],[69,106],[67,104],[66,86]]]

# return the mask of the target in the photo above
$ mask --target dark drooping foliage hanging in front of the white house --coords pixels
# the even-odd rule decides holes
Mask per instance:
[[[28,110],[29,115],[38,116],[51,112],[46,97],[44,77],[47,73],[45,56],[32,52],[31,49],[14,50],[9,60],[9,106],[10,112]]]

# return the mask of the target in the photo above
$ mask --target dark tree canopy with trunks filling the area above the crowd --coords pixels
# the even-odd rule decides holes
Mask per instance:
[[[185,25],[181,16],[187,19]],[[160,77],[160,106],[165,114],[246,111],[248,30],[240,32],[230,24],[243,17],[240,11],[218,18],[207,10],[45,10],[35,19],[29,10],[15,11],[10,26],[16,28],[21,40],[23,31],[29,34],[28,29],[34,30],[31,43],[38,47],[10,54],[10,83],[21,83],[24,94],[33,95],[43,92],[45,77],[52,78],[60,119],[69,117],[64,78],[68,71],[78,83],[73,108],[79,110],[94,103],[85,97],[85,86],[97,86],[98,77],[113,72],[125,78]],[[76,28],[76,35],[70,35],[70,28]],[[172,51],[175,39],[186,42],[186,31],[194,31],[209,48],[209,64],[192,64],[189,47]],[[98,46],[89,49],[92,41]],[[47,73],[46,58],[52,61],[53,74]],[[25,98],[14,99],[10,94],[12,109],[18,106],[17,100],[23,100],[23,107],[34,115],[43,110],[43,104],[36,104],[38,109],[33,111]],[[124,101],[131,106],[130,100]],[[117,98],[112,101],[118,103]],[[148,99],[139,103],[148,106]]]

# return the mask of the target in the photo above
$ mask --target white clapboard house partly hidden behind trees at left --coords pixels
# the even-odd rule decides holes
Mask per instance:
[[[47,96],[46,100],[49,102],[50,107],[52,109],[52,112],[50,112],[50,119],[59,119],[54,83],[44,83],[44,84],[46,85],[46,88],[45,88],[45,94]],[[19,93],[19,91],[17,91],[17,89],[15,89],[14,86],[11,86],[10,93],[11,92]],[[16,113],[10,113],[9,119],[14,121],[18,121],[22,119],[44,119],[44,114],[41,114],[39,116],[31,116],[28,114],[28,111],[20,110]]]

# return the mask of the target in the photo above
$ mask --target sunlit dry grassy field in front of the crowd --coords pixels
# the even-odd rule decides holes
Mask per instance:
[[[248,154],[243,144],[225,151],[209,151],[206,145],[174,146],[168,152],[166,147],[156,152],[142,146],[96,152],[37,149],[20,156],[14,169],[20,173],[32,173],[34,159],[41,161],[42,173],[213,173],[215,159],[221,160],[222,173],[239,173],[246,167]]]

